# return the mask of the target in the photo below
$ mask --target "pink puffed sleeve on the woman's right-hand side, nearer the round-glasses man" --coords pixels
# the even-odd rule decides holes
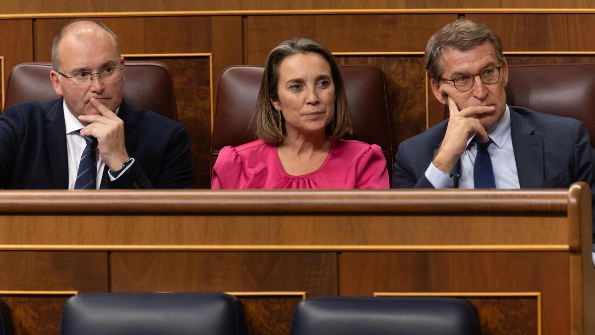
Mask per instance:
[[[378,145],[369,146],[356,166],[357,188],[390,188],[386,158]]]

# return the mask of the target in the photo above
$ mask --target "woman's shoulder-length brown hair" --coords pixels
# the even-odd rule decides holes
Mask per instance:
[[[308,52],[321,55],[331,67],[331,76],[335,87],[335,115],[334,122],[331,122],[326,128],[327,137],[334,141],[342,138],[345,134],[352,134],[353,126],[347,109],[345,85],[343,85],[343,77],[333,55],[322,44],[313,39],[293,38],[281,42],[268,54],[267,65],[264,68],[258,100],[256,101],[256,112],[252,116],[252,120],[250,120],[250,129],[252,129],[256,138],[270,144],[278,144],[283,141],[282,131],[280,134],[278,128],[279,117],[277,110],[271,103],[271,99],[278,101],[279,98],[277,91],[279,66],[287,56]],[[281,122],[284,122],[283,117],[281,117]],[[284,126],[281,129],[284,129]]]

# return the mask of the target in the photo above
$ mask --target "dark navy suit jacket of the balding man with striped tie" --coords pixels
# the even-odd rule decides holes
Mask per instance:
[[[190,136],[177,122],[122,101],[126,150],[134,158],[124,175],[101,188],[192,188]],[[11,106],[0,116],[0,188],[67,189],[68,156],[62,99]]]

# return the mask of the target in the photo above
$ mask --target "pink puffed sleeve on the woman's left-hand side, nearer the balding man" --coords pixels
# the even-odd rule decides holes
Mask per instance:
[[[211,189],[244,188],[248,183],[242,157],[234,147],[224,147],[219,151],[217,162],[211,175]]]

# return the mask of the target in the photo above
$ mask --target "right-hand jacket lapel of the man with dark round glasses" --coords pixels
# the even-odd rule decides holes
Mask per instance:
[[[543,141],[521,115],[511,110],[512,148],[521,188],[543,188]]]

